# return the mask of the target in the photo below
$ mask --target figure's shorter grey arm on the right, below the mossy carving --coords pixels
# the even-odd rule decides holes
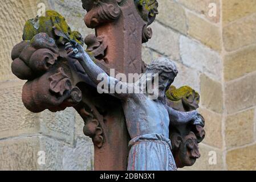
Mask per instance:
[[[188,123],[189,121],[194,121],[197,119],[197,111],[181,112],[174,110],[172,107],[168,107],[168,113],[170,118],[170,123],[173,125],[181,125]]]

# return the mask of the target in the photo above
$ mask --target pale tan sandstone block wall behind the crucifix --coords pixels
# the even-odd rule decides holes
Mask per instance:
[[[3,0],[0,6],[0,169],[93,169],[91,140],[74,109],[30,113],[21,101],[23,81],[10,71],[10,52],[21,42],[22,28],[34,18],[38,3],[61,13],[72,30],[86,28],[77,0]],[[210,3],[216,5],[211,17]],[[184,170],[256,169],[256,5],[244,0],[159,0],[153,38],[143,46],[143,60],[165,56],[176,61],[175,86],[201,94],[206,119],[201,158]],[[38,164],[46,152],[46,165]],[[214,157],[216,155],[216,161]]]

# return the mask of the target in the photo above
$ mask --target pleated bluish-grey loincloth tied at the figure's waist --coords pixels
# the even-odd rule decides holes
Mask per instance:
[[[128,171],[176,171],[170,139],[146,134],[129,142]]]

